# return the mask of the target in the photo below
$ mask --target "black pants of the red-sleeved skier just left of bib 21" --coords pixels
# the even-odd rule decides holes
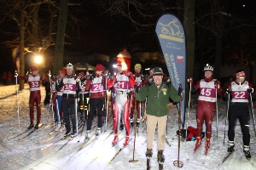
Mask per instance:
[[[98,127],[102,127],[102,108],[103,108],[103,103],[104,99],[103,98],[98,98],[98,99],[93,99],[90,98],[89,102],[89,116],[88,116],[88,121],[87,121],[87,130],[91,129],[92,125],[92,119],[94,112],[96,111],[97,116],[98,116]]]

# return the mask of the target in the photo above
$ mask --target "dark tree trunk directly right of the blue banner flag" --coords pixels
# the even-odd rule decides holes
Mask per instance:
[[[184,1],[183,26],[187,42],[187,77],[193,77],[195,60],[195,0]]]

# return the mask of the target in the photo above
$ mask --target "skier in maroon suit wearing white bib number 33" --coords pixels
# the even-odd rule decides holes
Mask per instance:
[[[41,91],[40,91],[40,80],[44,82],[49,82],[47,77],[43,77],[38,74],[38,66],[32,65],[32,73],[29,73],[26,76],[19,77],[20,80],[27,80],[29,84],[30,97],[29,97],[29,116],[30,116],[30,125],[27,127],[31,129],[34,127],[34,103],[37,107],[37,124],[35,128],[37,129],[40,126],[41,121]]]

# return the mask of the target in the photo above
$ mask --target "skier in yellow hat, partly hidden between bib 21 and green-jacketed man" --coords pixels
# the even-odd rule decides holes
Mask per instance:
[[[142,73],[142,65],[141,64],[136,64],[134,65],[134,70],[135,73],[133,74],[133,77],[135,79],[135,83],[137,87],[140,89],[143,87],[143,85],[147,82],[147,79],[143,76]],[[133,126],[133,112],[134,112],[134,99],[131,101],[131,126]],[[137,127],[139,127],[139,124],[142,120],[142,107],[143,107],[143,102],[137,101]]]

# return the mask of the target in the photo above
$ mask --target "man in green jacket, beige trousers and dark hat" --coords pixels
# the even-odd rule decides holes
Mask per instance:
[[[147,152],[146,156],[152,157],[152,148],[154,142],[155,127],[158,124],[158,139],[157,139],[157,160],[160,163],[165,161],[163,151],[165,149],[166,141],[166,121],[168,114],[169,98],[173,102],[179,102],[179,95],[182,94],[182,88],[178,89],[171,84],[171,82],[163,82],[163,76],[165,76],[163,70],[160,67],[154,67],[152,82],[145,84],[137,93],[137,100],[143,101],[148,97],[147,104]],[[137,90],[136,90],[137,91]]]

